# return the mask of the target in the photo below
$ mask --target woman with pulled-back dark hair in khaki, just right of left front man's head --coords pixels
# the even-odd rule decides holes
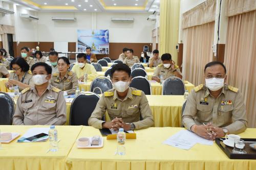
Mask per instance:
[[[68,94],[75,94],[78,87],[78,78],[73,71],[69,71],[70,62],[67,57],[58,58],[58,72],[52,74],[50,84]]]

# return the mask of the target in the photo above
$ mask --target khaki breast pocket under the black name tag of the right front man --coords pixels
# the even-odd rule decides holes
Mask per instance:
[[[208,122],[212,118],[212,107],[210,105],[197,105],[197,117],[203,121]]]

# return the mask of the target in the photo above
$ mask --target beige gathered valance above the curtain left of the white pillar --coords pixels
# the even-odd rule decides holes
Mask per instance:
[[[215,21],[216,0],[208,0],[182,15],[182,29]]]

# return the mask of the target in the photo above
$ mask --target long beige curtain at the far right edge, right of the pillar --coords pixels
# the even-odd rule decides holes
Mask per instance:
[[[224,64],[228,84],[244,96],[248,126],[256,128],[256,11],[228,18]]]

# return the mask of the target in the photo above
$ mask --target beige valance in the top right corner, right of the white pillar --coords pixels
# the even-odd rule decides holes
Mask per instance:
[[[255,0],[226,0],[226,16],[233,16],[254,10],[256,10]]]

